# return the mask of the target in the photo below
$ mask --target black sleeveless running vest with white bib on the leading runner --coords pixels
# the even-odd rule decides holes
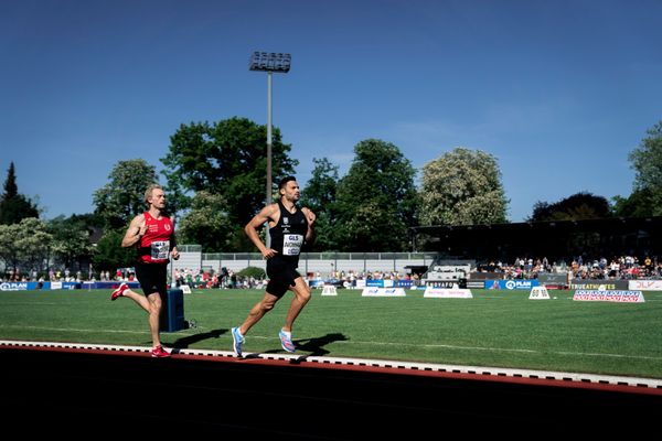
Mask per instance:
[[[299,263],[299,255],[308,233],[308,220],[299,207],[292,214],[287,211],[282,202],[278,201],[280,218],[269,228],[271,248],[278,251],[277,257],[282,258],[295,267]]]

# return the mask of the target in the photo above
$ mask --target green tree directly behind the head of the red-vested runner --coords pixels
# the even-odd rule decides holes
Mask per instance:
[[[147,208],[145,191],[158,183],[156,168],[143,159],[119,161],[108,175],[110,182],[94,193],[95,214],[108,228],[122,228]]]

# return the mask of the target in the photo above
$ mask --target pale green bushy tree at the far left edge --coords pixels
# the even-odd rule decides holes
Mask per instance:
[[[0,225],[0,259],[7,268],[42,270],[47,261],[53,236],[36,217],[25,217],[18,224]]]

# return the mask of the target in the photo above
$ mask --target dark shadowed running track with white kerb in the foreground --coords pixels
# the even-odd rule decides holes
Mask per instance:
[[[662,420],[662,383],[643,379],[188,349],[154,359],[143,347],[12,342],[0,342],[0,421],[20,437],[631,439]]]

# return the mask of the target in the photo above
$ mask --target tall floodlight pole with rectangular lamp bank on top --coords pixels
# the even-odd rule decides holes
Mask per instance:
[[[267,73],[267,196],[265,205],[271,203],[271,74],[274,72],[287,74],[290,68],[292,56],[280,52],[254,52],[250,55],[249,71]],[[270,248],[271,237],[269,227],[266,228],[266,246]]]

